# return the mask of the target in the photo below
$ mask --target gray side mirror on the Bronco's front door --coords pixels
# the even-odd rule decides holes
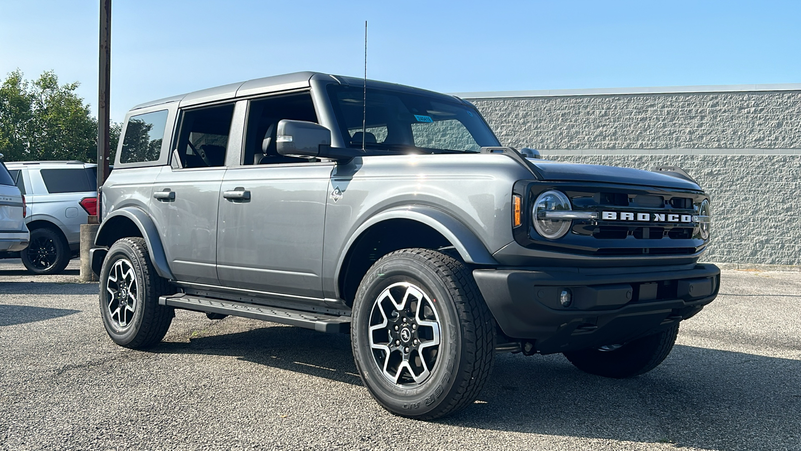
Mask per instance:
[[[276,152],[300,158],[330,158],[348,160],[361,154],[360,150],[332,148],[331,130],[305,120],[283,119],[278,123]]]

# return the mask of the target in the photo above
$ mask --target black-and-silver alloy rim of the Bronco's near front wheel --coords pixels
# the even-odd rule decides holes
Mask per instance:
[[[437,310],[419,286],[397,282],[376,298],[369,340],[376,364],[393,384],[422,384],[437,364],[441,327]]]

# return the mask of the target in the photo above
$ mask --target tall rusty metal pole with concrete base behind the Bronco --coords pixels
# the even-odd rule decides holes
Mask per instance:
[[[111,0],[100,0],[100,55],[98,73],[98,215],[103,205],[100,204],[100,189],[108,177],[109,132],[111,116],[109,114],[109,91],[111,78]],[[89,224],[81,225],[81,282],[95,282],[97,277],[92,272],[89,261],[89,250],[95,244],[95,235],[100,226],[99,216],[90,216]]]

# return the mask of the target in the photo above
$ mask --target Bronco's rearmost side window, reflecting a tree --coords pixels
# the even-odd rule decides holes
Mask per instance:
[[[140,163],[159,160],[167,110],[131,116],[125,128],[120,163]]]

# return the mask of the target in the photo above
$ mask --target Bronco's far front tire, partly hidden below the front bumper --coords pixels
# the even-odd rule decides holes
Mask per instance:
[[[567,360],[583,372],[625,379],[650,372],[665,360],[676,343],[678,324],[658,334],[622,345],[565,352]]]

